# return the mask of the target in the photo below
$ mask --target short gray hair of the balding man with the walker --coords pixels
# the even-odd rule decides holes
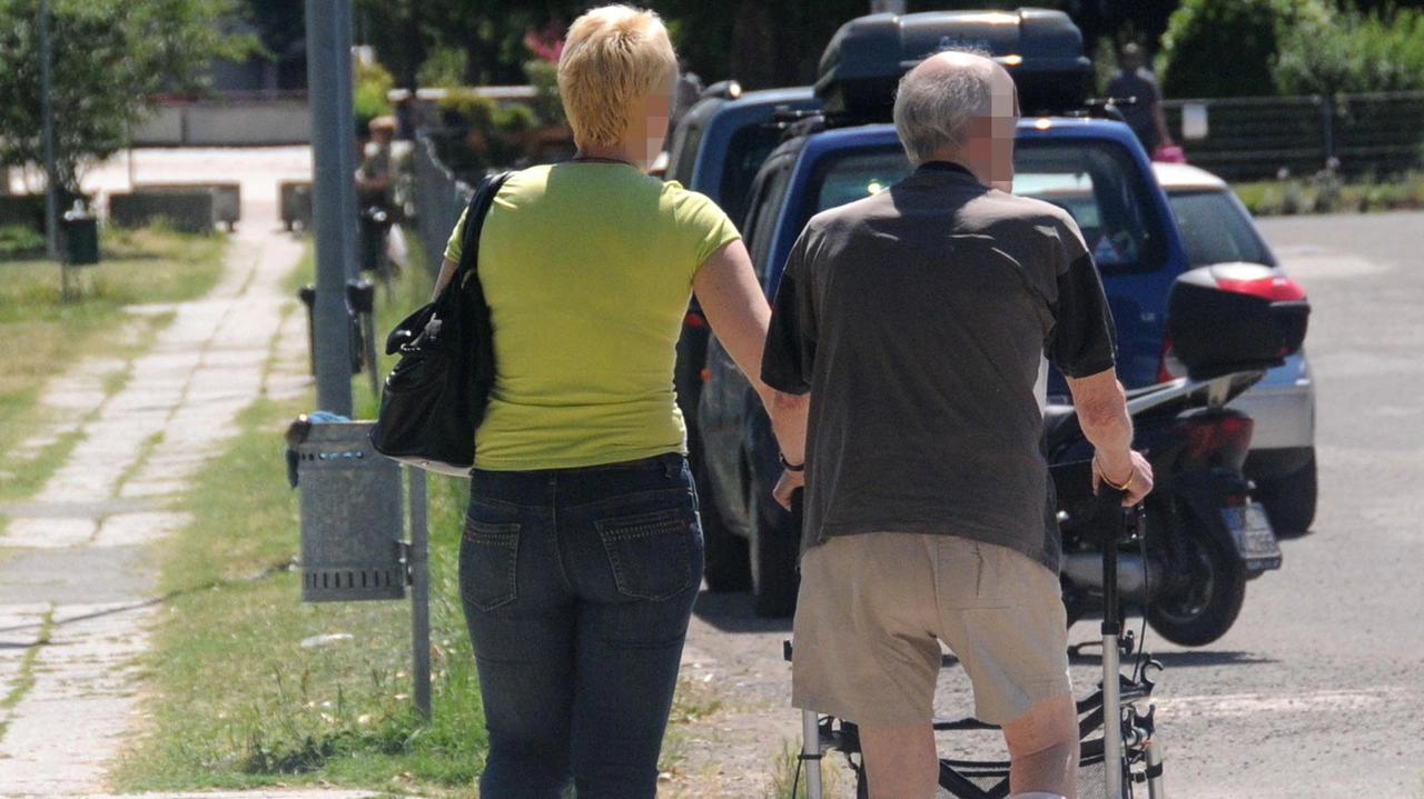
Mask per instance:
[[[950,48],[988,57],[980,48]],[[910,165],[930,161],[941,148],[970,142],[973,122],[990,112],[994,98],[993,70],[910,70],[896,90],[894,129]]]

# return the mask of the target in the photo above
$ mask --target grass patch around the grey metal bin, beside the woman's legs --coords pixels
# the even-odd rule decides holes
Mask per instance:
[[[456,584],[463,486],[430,483],[426,725],[409,699],[406,603],[300,603],[299,496],[285,482],[281,432],[303,409],[253,405],[182,503],[195,520],[167,546],[169,599],[145,658],[150,729],[114,775],[124,790],[329,783],[473,795],[484,736]],[[352,638],[302,645],[333,633]]]

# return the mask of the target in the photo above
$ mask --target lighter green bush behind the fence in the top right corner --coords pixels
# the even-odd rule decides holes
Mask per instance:
[[[1347,9],[1302,20],[1282,36],[1274,78],[1282,94],[1424,88],[1424,13]]]

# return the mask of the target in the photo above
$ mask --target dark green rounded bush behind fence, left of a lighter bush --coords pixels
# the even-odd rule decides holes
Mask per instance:
[[[1324,0],[1183,0],[1162,36],[1158,75],[1168,97],[1276,94],[1284,36],[1329,20]]]

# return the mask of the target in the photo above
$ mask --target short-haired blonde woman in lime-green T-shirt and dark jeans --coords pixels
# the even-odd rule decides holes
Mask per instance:
[[[656,793],[702,580],[675,344],[696,291],[759,375],[770,313],[721,209],[646,175],[675,80],[656,14],[580,17],[558,65],[578,155],[510,176],[484,222],[497,378],[460,547],[484,799],[560,799],[571,783],[580,799]]]

